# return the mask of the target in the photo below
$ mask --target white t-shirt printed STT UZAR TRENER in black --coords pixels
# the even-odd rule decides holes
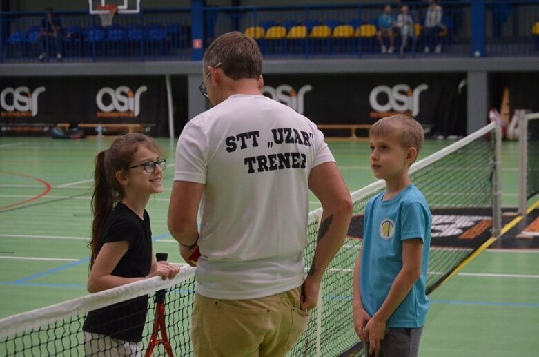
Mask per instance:
[[[232,95],[186,124],[174,180],[205,184],[197,293],[248,299],[299,287],[308,176],[335,162],[316,125],[262,95]]]

